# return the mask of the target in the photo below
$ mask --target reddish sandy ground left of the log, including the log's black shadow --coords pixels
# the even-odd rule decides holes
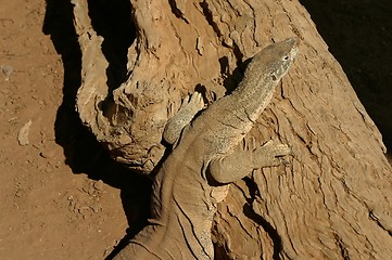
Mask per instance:
[[[148,182],[116,168],[78,121],[69,6],[47,2],[0,0],[0,258],[103,259],[136,232],[130,216],[142,213],[128,204],[146,205]]]

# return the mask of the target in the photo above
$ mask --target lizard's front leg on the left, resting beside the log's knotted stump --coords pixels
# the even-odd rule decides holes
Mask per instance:
[[[182,129],[193,119],[194,115],[204,107],[203,96],[199,92],[188,95],[176,115],[167,120],[163,131],[163,139],[174,144],[181,134]]]

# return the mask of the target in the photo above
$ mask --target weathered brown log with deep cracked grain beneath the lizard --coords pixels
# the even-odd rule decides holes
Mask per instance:
[[[291,167],[231,185],[212,231],[216,255],[392,258],[392,172],[381,134],[298,0],[130,2],[137,39],[128,77],[111,93],[102,37],[86,1],[73,0],[83,51],[77,108],[117,161],[149,174],[165,152],[165,122],[188,92],[204,89],[214,102],[249,57],[298,36],[296,61],[243,144],[279,139],[293,148]]]

